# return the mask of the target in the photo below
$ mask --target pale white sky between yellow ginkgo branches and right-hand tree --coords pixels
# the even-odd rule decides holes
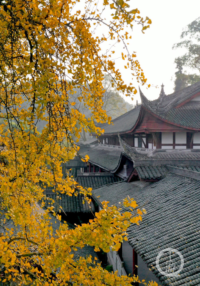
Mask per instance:
[[[172,50],[172,46],[179,41],[182,29],[200,16],[200,0],[130,0],[129,5],[152,20],[145,34],[141,33],[138,25],[132,32],[132,50],[137,51],[148,83],[159,86],[148,90],[143,86],[142,91],[153,100],[159,96],[163,83],[165,93],[170,94],[174,86],[171,80],[175,73],[174,59],[182,53],[181,50]],[[126,78],[129,78],[128,73]],[[137,82],[134,85],[138,87]],[[136,99],[138,95],[133,102],[127,101],[135,103]]]

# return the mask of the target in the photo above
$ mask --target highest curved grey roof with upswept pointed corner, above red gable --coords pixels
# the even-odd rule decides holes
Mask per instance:
[[[161,120],[166,120],[171,124],[183,128],[200,130],[199,103],[188,103],[179,108],[175,108],[181,103],[189,101],[190,98],[194,97],[196,94],[200,95],[200,82],[183,88],[178,92],[159,97],[153,101],[148,100],[140,90],[140,97],[142,100],[141,105],[136,106],[134,109],[115,118],[112,121],[113,124],[108,125],[107,123],[104,123],[100,124],[99,127],[104,129],[104,136],[131,132],[139,120],[140,111],[142,111],[141,109],[144,107]]]

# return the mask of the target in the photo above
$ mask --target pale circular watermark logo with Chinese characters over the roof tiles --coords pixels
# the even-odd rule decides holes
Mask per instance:
[[[169,257],[169,259],[167,259],[167,261],[165,261],[165,263],[162,263],[162,266],[160,266],[161,256],[162,257],[165,256],[167,258]],[[177,249],[173,249],[171,247],[168,247],[168,248],[161,250],[158,253],[155,263],[156,263],[157,270],[162,275],[165,275],[167,277],[175,277],[183,269],[184,259],[183,259],[183,255]],[[165,264],[165,265],[163,266],[163,264]]]

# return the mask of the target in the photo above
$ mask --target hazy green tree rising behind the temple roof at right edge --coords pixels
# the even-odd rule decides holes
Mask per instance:
[[[187,52],[174,61],[178,69],[175,72],[175,91],[200,80],[200,17],[185,27],[181,39],[181,42],[173,45],[173,49],[185,48]],[[190,74],[184,70],[188,68],[195,73]]]

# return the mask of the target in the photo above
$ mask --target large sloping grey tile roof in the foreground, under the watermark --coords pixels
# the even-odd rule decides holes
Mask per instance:
[[[127,231],[129,243],[165,285],[200,285],[200,181],[167,173],[158,182],[119,182],[93,192],[94,199],[100,196],[118,206],[127,196],[145,204],[142,222]],[[177,277],[159,275],[155,267],[159,251],[168,247],[180,251],[185,261]]]

